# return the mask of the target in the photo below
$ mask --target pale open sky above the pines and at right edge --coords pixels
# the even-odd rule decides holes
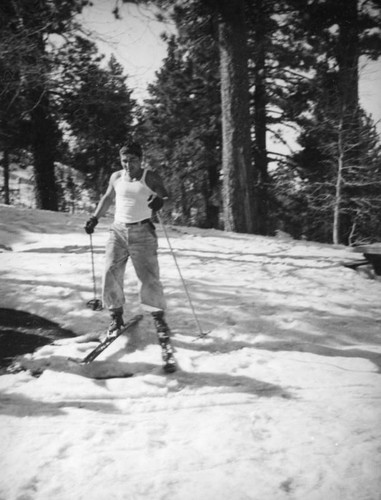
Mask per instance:
[[[129,75],[134,96],[142,101],[147,84],[154,81],[166,56],[166,44],[160,39],[163,31],[173,32],[170,23],[156,21],[151,10],[134,4],[118,2],[121,20],[116,20],[112,9],[115,0],[93,0],[81,16],[88,28],[99,35],[101,50],[115,54]],[[381,134],[381,59],[376,62],[360,62],[360,99],[368,113],[372,114]]]

